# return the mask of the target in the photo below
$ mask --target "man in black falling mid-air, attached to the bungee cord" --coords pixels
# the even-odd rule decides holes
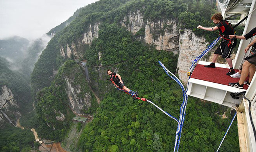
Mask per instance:
[[[134,92],[125,86],[121,76],[118,73],[111,72],[111,70],[108,69],[107,74],[110,76],[110,81],[112,81],[116,87],[128,92],[132,96],[133,100],[138,97],[137,92]]]

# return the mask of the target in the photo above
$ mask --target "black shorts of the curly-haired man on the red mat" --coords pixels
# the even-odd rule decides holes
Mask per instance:
[[[230,44],[229,44],[230,43]],[[214,54],[222,55],[222,58],[230,58],[232,49],[236,47],[236,39],[233,41],[222,40]]]

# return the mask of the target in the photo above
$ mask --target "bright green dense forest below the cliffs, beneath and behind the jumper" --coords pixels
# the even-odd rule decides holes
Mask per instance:
[[[152,99],[165,111],[178,117],[182,103],[182,92],[175,81],[170,80],[158,65],[161,60],[166,67],[175,72],[177,55],[166,51],[148,48],[136,41],[124,28],[115,24],[102,25],[99,37],[91,45],[86,59],[88,64],[99,64],[95,54],[104,48],[101,57],[102,65],[114,65],[122,74],[127,87],[139,92],[139,95]],[[111,40],[118,51],[111,47]],[[125,50],[125,51],[123,51]],[[132,51],[132,54],[129,53]],[[125,56],[130,54],[129,57]],[[96,56],[97,57],[97,56]],[[116,60],[113,60],[113,57]],[[97,79],[96,75],[94,77]],[[96,80],[95,80],[96,81]],[[100,84],[105,82],[100,82]],[[103,86],[102,86],[103,87]],[[102,88],[100,86],[100,88]],[[222,115],[227,108],[214,103],[202,103],[189,98],[186,122],[181,138],[181,151],[214,151],[222,139],[223,131],[229,121]],[[218,113],[216,113],[218,111]],[[230,116],[229,118],[231,118]],[[83,151],[171,151],[174,147],[175,121],[166,117],[149,103],[132,101],[132,98],[112,89],[97,109],[93,122],[86,125],[79,140]],[[234,125],[231,134],[225,140],[223,151],[236,151],[238,148],[237,127]],[[236,142],[234,143],[234,140]]]

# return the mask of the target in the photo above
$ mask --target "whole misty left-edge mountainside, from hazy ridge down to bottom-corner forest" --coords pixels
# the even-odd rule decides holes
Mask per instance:
[[[39,145],[34,143],[34,135],[30,129],[15,126],[19,126],[21,116],[25,118],[22,119],[23,122],[34,122],[30,75],[49,39],[50,37],[43,35],[34,41],[18,36],[0,40],[1,152],[27,152]]]

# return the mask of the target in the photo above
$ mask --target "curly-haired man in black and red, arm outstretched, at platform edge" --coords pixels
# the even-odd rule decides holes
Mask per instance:
[[[218,55],[222,55],[222,58],[225,58],[227,64],[230,67],[229,72],[227,72],[227,75],[230,76],[231,74],[235,74],[230,55],[232,49],[236,46],[236,38],[229,39],[228,35],[235,35],[235,30],[231,27],[231,24],[228,23],[227,20],[223,19],[220,13],[213,14],[213,16],[211,16],[211,20],[213,20],[213,23],[216,24],[215,27],[202,27],[201,25],[198,25],[197,28],[201,28],[207,31],[219,30],[222,41],[220,42],[220,46],[218,46],[214,52],[211,64],[205,65],[204,67],[215,68],[215,62],[218,58]]]

